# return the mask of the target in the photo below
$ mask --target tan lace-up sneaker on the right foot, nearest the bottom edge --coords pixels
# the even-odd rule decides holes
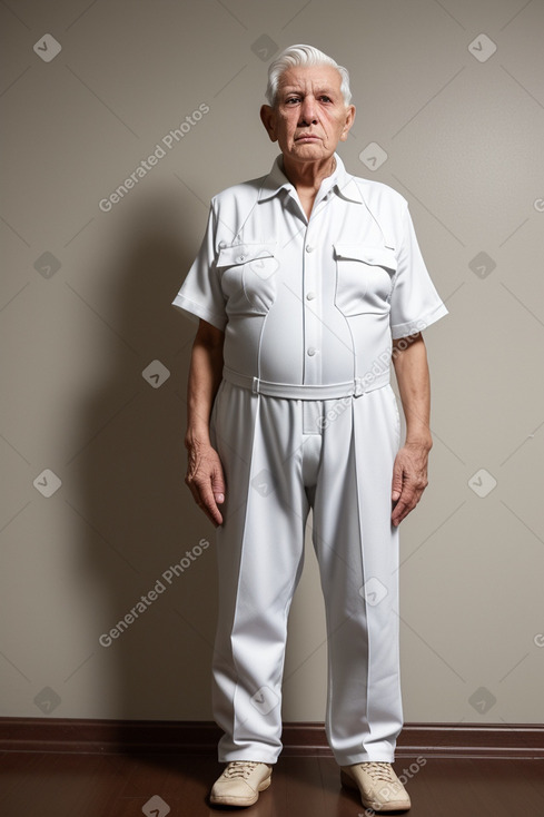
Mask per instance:
[[[342,766],[340,769],[342,785],[359,789],[365,808],[373,808],[375,811],[407,811],[411,807],[408,793],[390,764],[355,764]]]

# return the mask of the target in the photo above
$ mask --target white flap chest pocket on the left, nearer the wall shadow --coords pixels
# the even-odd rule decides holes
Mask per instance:
[[[266,315],[276,301],[278,286],[276,242],[222,247],[217,268],[228,315]]]

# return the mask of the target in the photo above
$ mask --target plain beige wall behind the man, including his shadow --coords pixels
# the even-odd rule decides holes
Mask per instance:
[[[451,312],[425,333],[431,485],[402,525],[406,719],[541,720],[542,0],[20,0],[0,4],[0,22],[1,713],[211,717],[214,529],[182,483],[194,326],[169,304],[210,196],[271,165],[266,67],[301,41],[350,69],[344,161],[408,198]],[[61,46],[49,62],[44,35]],[[199,106],[209,111],[100,209]],[[376,155],[370,142],[388,156],[376,169],[359,158]],[[142,377],[154,361],[170,373],[158,387]],[[49,498],[44,470],[62,483]],[[168,585],[186,551],[199,555]],[[307,553],[286,720],[324,717]],[[141,595],[146,612],[101,646]]]

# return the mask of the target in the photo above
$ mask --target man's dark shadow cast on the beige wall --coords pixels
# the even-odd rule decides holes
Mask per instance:
[[[97,270],[118,338],[82,408],[87,442],[71,465],[82,582],[90,570],[100,604],[92,660],[102,688],[89,706],[93,717],[210,719],[215,535],[184,483],[196,324],[170,306],[194,257],[195,199],[139,207],[117,242],[120,260]]]

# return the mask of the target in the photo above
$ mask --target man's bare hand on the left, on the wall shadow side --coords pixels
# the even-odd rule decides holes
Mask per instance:
[[[218,505],[225,502],[225,478],[219,454],[206,443],[191,443],[187,450],[189,461],[185,482],[197,505],[217,528],[222,523]]]

